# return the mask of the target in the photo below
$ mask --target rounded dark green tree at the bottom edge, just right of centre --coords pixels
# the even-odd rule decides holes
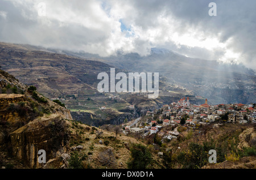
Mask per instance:
[[[142,144],[133,144],[130,151],[131,158],[127,162],[130,169],[146,169],[152,161],[150,150]]]

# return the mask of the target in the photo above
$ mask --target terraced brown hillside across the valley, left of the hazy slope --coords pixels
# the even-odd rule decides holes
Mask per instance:
[[[110,67],[113,66],[92,61],[90,58],[53,53],[53,50],[30,45],[1,42],[0,59],[3,70],[14,75],[24,84],[34,85],[47,98],[59,98],[73,112],[77,121],[84,121],[93,126],[104,123],[119,124],[125,118],[130,121],[145,110],[159,108],[162,104],[176,101],[187,95],[193,96],[190,91],[168,83],[163,77],[160,77],[160,92],[157,100],[148,99],[144,95],[138,97],[124,93],[99,93],[97,84],[100,80],[97,79],[97,75],[100,72],[109,73]],[[127,72],[118,68],[115,72],[121,70]],[[131,101],[135,99],[134,96],[139,100]],[[201,99],[196,97],[191,97],[191,101],[195,104],[201,103]],[[129,109],[129,105],[135,105],[135,111]],[[100,110],[102,106],[113,109],[112,113]],[[94,118],[81,119],[77,112],[92,114]],[[119,120],[115,121],[115,119]]]

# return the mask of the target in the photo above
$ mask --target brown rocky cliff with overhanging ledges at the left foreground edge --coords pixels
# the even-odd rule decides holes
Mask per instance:
[[[29,90],[14,76],[0,71],[0,166],[10,161],[15,168],[43,168],[68,151],[68,109]],[[46,164],[38,151],[46,152]]]

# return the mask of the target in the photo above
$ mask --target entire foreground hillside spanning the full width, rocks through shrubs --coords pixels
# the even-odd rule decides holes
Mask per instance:
[[[254,124],[210,123],[196,130],[180,126],[177,139],[163,142],[156,134],[124,135],[120,126],[73,121],[68,109],[0,72],[0,166],[5,168],[127,169],[141,158],[136,156],[139,148],[146,148],[147,168],[152,169],[256,168]],[[39,149],[46,151],[46,164],[38,162]],[[217,151],[217,164],[208,163],[210,149]]]

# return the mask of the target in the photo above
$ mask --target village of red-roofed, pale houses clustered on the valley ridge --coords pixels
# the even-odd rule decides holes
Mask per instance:
[[[163,105],[154,112],[147,111],[143,117],[135,119],[133,123],[122,124],[123,134],[131,134],[144,138],[157,134],[162,140],[172,140],[181,131],[197,130],[199,127],[213,124],[213,127],[223,123],[256,123],[256,109],[253,105],[245,104],[205,104],[193,105],[189,97],[181,98],[178,102]]]

